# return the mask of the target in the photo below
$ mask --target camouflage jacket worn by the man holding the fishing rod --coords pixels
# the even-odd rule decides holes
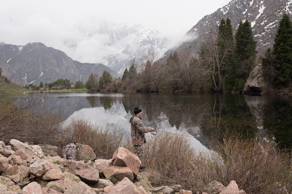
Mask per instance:
[[[131,136],[134,146],[141,146],[146,143],[145,134],[151,131],[152,127],[144,127],[142,118],[134,115],[130,118]]]

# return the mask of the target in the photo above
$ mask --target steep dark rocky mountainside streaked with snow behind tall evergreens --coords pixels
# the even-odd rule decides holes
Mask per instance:
[[[203,17],[185,35],[181,44],[174,50],[182,52],[185,49],[198,55],[201,44],[217,38],[220,20],[230,18],[234,31],[239,21],[247,19],[251,22],[253,35],[257,41],[258,54],[263,54],[266,48],[272,47],[283,12],[292,13],[291,0],[233,0],[211,15]]]

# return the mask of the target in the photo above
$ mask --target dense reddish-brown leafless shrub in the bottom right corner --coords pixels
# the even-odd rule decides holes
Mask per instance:
[[[272,193],[279,182],[291,191],[291,158],[287,151],[276,151],[276,144],[257,137],[225,136],[217,142],[209,163],[208,181],[227,185],[235,180],[246,193]]]

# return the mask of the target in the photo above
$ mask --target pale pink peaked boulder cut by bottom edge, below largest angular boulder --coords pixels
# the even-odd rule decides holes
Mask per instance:
[[[127,177],[109,189],[108,194],[141,194],[138,187]]]

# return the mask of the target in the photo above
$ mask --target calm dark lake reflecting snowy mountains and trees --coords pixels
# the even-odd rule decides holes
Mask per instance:
[[[134,107],[142,109],[144,126],[189,136],[198,150],[226,131],[269,136],[280,147],[292,147],[291,98],[197,93],[45,93],[48,106],[65,121],[83,117],[130,135]],[[2,96],[8,98],[9,96]],[[13,96],[16,97],[16,96]],[[162,133],[162,132],[157,132]],[[151,138],[147,134],[147,138]]]

